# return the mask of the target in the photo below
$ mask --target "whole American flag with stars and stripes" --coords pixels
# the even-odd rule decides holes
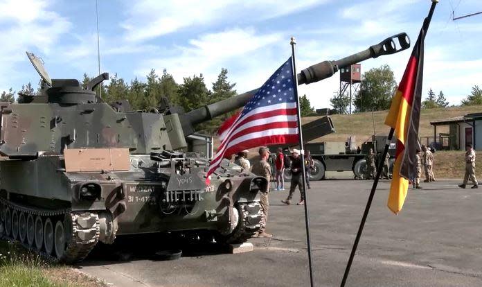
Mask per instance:
[[[221,145],[209,166],[206,183],[222,159],[258,146],[298,142],[298,109],[290,57],[279,67],[244,109],[220,128]]]

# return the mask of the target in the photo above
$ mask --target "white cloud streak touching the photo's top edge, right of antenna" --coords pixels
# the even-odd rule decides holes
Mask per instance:
[[[148,40],[182,28],[229,23],[238,19],[257,21],[303,10],[328,0],[196,0],[127,2],[128,19],[121,24],[130,41]]]

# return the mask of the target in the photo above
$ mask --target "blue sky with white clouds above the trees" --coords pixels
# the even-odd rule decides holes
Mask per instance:
[[[405,32],[416,41],[430,0],[98,0],[102,72],[145,80],[167,69],[177,82],[202,73],[208,88],[222,68],[239,92],[259,87],[291,54],[298,71],[337,60]],[[457,105],[482,84],[480,0],[440,0],[425,42],[424,94],[443,91]],[[25,51],[41,57],[51,78],[98,74],[96,1],[0,0],[0,91],[39,76]],[[400,81],[411,49],[362,62],[389,64]],[[315,108],[330,107],[339,73],[301,85]]]

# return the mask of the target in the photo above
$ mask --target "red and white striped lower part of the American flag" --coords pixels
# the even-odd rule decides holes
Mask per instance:
[[[241,114],[235,114],[226,121],[232,121],[232,125],[222,125],[222,142],[209,166],[206,182],[220,166],[222,159],[229,158],[240,150],[298,141],[296,102],[258,107],[244,116]]]

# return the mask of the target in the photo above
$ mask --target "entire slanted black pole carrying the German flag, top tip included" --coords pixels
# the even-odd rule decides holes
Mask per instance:
[[[427,17],[424,19],[422,29],[424,27],[426,27],[426,29],[428,30],[428,25],[431,21],[432,16],[434,15],[435,6],[437,5],[438,0],[431,0],[431,2],[432,2],[432,4],[430,6],[429,15],[427,15]],[[423,37],[425,37],[426,33],[427,33],[427,31],[425,31],[425,33],[423,33],[423,35],[422,34],[419,34],[419,35],[422,35]],[[422,40],[424,40],[424,39],[422,39]],[[419,42],[419,41],[420,41],[420,39],[417,40],[417,42]],[[391,128],[390,132],[389,132],[389,137],[386,139],[382,159],[380,160],[380,163],[378,164],[377,175],[375,176],[375,180],[373,181],[373,186],[372,186],[372,189],[370,191],[370,195],[368,196],[368,201],[366,202],[365,211],[364,211],[364,214],[362,216],[362,222],[360,223],[360,226],[358,227],[357,236],[355,237],[355,242],[353,243],[353,247],[352,247],[352,250],[351,250],[351,253],[350,253],[350,258],[348,259],[348,263],[346,264],[345,273],[343,274],[343,279],[341,280],[341,285],[340,285],[341,287],[345,286],[346,279],[348,279],[348,274],[350,273],[350,267],[352,265],[353,258],[355,257],[355,252],[357,252],[358,243],[360,241],[360,237],[362,236],[363,228],[365,226],[365,221],[366,221],[366,218],[368,217],[368,212],[370,211],[371,203],[373,201],[373,196],[375,195],[375,191],[377,189],[378,181],[380,180],[380,175],[382,175],[383,159],[386,157],[386,154],[389,152],[389,146],[390,146],[390,143],[391,143],[391,139],[393,138],[393,132],[395,132],[395,129]]]

